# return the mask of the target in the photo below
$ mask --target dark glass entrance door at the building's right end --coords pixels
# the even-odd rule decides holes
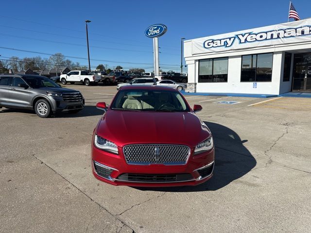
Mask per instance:
[[[311,53],[294,56],[293,91],[311,92]]]

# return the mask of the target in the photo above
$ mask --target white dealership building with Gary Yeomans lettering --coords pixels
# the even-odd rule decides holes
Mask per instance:
[[[311,18],[184,41],[188,91],[311,92]]]

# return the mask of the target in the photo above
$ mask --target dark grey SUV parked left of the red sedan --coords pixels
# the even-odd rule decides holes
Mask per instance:
[[[40,75],[0,74],[0,108],[33,109],[40,117],[77,113],[85,100],[79,91],[62,88]]]

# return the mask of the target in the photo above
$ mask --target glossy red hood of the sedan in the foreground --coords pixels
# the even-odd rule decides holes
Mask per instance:
[[[194,113],[108,110],[95,131],[122,147],[126,144],[180,144],[190,148],[211,133]]]

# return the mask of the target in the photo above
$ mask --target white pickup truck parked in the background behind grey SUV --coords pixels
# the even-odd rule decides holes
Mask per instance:
[[[72,70],[68,74],[62,74],[60,76],[60,82],[65,85],[66,83],[82,82],[86,86],[91,83],[98,83],[102,80],[100,75],[90,75],[86,70]]]

